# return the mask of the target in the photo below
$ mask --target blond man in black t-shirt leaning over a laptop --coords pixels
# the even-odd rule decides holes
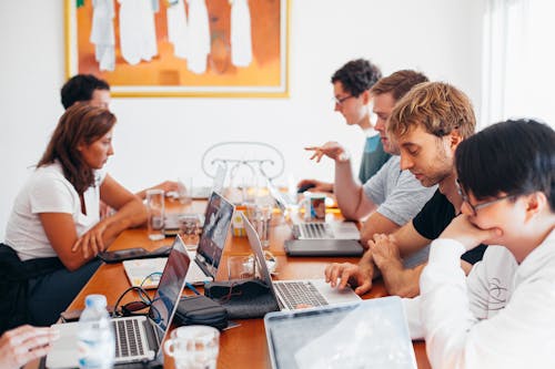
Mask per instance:
[[[390,294],[418,295],[425,265],[405,268],[403,258],[425,249],[461,212],[464,199],[457,191],[454,154],[457,145],[474,133],[475,125],[468,98],[446,83],[422,83],[398,101],[387,122],[387,136],[400,147],[401,168],[408,170],[423,186],[438,188],[412,222],[392,235],[374,234],[359,265],[327,266],[325,277],[333,287],[349,283],[357,286],[355,293],[365,294],[377,267]],[[463,254],[461,266],[466,274],[484,252],[482,245]]]

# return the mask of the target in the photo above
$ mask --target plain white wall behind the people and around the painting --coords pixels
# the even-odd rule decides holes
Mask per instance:
[[[290,99],[114,99],[119,123],[111,174],[133,191],[184,171],[208,182],[200,168],[208,146],[253,140],[284,153],[285,173],[331,180],[332,163],[310,162],[302,147],[335,140],[360,155],[361,132],[333,112],[329,82],[354,58],[370,58],[384,74],[417,69],[451,82],[480,111],[480,0],[291,0],[291,6]],[[62,0],[2,1],[0,34],[1,240],[13,197],[62,113]]]

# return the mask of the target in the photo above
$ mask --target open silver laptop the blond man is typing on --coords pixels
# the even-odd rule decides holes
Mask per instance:
[[[324,279],[272,280],[262,252],[256,230],[244,214],[243,223],[249,237],[256,266],[264,283],[270,287],[281,310],[294,310],[306,306],[326,306],[360,301],[361,298],[351,288],[333,288]]]

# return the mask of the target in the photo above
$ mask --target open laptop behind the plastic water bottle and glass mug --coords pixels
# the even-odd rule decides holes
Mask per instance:
[[[162,362],[162,341],[178,308],[191,258],[176,238],[168,257],[160,285],[147,316],[113,318],[115,363],[138,361]],[[60,339],[52,344],[47,357],[47,368],[79,367],[79,322],[54,325]],[[127,336],[125,334],[129,334]]]

